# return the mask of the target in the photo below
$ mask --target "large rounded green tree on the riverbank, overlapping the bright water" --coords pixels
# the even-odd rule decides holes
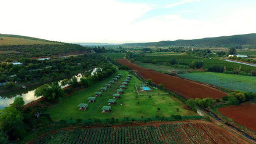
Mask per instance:
[[[36,89],[34,94],[37,97],[45,97],[51,102],[57,102],[59,98],[65,95],[63,89],[58,86],[58,82],[52,82],[52,84],[44,84],[43,86]]]

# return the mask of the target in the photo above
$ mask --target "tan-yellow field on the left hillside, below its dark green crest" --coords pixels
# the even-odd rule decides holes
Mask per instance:
[[[31,44],[61,44],[60,42],[52,41],[40,41],[34,39],[25,38],[12,38],[0,36],[0,46],[1,45],[31,45]]]

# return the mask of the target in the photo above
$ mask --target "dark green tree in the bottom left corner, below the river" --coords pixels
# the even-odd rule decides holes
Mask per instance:
[[[0,110],[0,127],[11,140],[22,138],[25,135],[23,115],[12,106]]]

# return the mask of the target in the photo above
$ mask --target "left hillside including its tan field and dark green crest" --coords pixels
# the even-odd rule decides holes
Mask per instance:
[[[32,38],[12,34],[0,34],[0,46],[2,45],[31,45],[31,44],[62,44],[62,42],[48,41],[46,39]]]

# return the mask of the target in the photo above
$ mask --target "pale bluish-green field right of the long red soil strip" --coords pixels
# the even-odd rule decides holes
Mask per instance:
[[[246,92],[256,92],[255,76],[240,76],[235,74],[224,73],[186,73],[178,76],[194,81],[214,84],[215,86],[224,87],[232,90],[242,90]]]

